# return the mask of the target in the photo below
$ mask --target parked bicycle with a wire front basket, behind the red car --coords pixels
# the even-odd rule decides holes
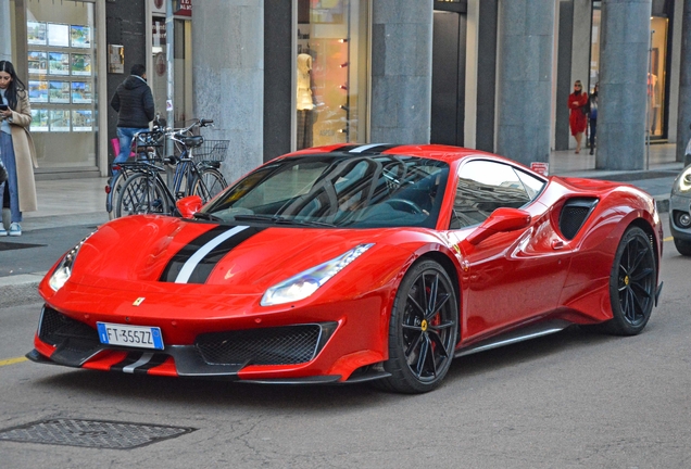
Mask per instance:
[[[175,164],[172,186],[165,183],[155,164],[141,162],[124,182],[118,197],[115,215],[165,214],[176,215],[175,202],[186,195],[199,195],[205,203],[227,187],[218,167],[225,159],[228,142],[204,141],[202,136],[190,135],[196,127],[210,126],[213,121],[196,121],[189,127],[166,132],[176,143],[179,156],[163,161]],[[205,145],[204,145],[205,143]]]

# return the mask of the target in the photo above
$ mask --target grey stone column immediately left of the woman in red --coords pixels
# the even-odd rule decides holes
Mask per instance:
[[[554,0],[500,0],[497,153],[548,162]]]

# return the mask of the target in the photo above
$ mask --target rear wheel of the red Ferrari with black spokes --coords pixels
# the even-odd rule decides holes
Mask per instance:
[[[635,335],[643,330],[655,303],[657,269],[653,245],[645,232],[629,228],[621,238],[610,275],[613,318],[605,330]]]

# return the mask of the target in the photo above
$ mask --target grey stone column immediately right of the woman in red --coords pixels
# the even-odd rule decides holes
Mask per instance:
[[[598,105],[599,169],[645,167],[651,0],[603,0]]]

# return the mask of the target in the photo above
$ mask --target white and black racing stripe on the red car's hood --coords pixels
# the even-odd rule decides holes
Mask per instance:
[[[204,283],[218,261],[238,244],[266,228],[215,227],[192,240],[168,261],[161,281]]]

